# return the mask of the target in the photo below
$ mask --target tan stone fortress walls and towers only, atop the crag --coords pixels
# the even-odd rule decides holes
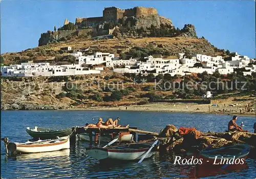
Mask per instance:
[[[104,8],[103,10],[103,16],[102,17],[77,17],[75,24],[78,25],[78,27],[82,26],[88,26],[93,27],[98,23],[101,23],[103,21],[114,21],[116,22],[118,19],[122,17],[146,17],[149,15],[156,15],[157,10],[155,8],[145,8],[145,7],[134,7],[131,9],[119,9],[116,7],[108,7]],[[67,19],[66,19],[67,20]],[[65,20],[65,22],[67,22]]]

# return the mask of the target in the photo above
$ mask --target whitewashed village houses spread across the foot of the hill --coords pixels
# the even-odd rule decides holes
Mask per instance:
[[[71,47],[66,47],[71,50]],[[251,75],[256,72],[256,65],[253,65],[255,59],[247,56],[241,56],[233,53],[230,61],[224,61],[221,56],[211,57],[197,54],[194,57],[186,58],[184,53],[178,54],[178,59],[154,58],[148,56],[144,61],[134,58],[121,59],[111,53],[96,52],[94,55],[86,55],[82,52],[69,54],[75,57],[76,63],[68,65],[50,65],[49,62],[15,64],[10,66],[1,66],[2,76],[61,76],[61,75],[81,75],[81,74],[99,74],[104,70],[104,66],[117,73],[136,73],[145,74],[169,73],[170,75],[185,75],[189,73],[202,73],[206,71],[212,74],[215,71],[220,74],[228,74],[234,71],[234,68],[245,68],[244,75]],[[196,63],[201,65],[195,65]],[[91,68],[90,68],[91,67]],[[93,67],[93,68],[92,68]]]

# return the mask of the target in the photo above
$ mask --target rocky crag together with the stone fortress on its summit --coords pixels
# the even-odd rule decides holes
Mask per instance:
[[[38,46],[73,37],[101,38],[111,35],[114,37],[197,37],[194,25],[185,24],[183,29],[175,29],[172,21],[159,16],[155,8],[134,7],[120,9],[117,7],[104,8],[100,17],[77,17],[75,23],[67,18],[62,27],[54,31],[42,33]]]

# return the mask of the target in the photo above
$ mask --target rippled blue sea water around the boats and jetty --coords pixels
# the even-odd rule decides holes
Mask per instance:
[[[120,124],[137,126],[140,130],[160,132],[167,124],[177,127],[196,127],[199,131],[224,132],[232,116],[214,114],[189,114],[139,111],[1,111],[1,138],[7,136],[12,142],[26,142],[31,137],[26,127],[49,127],[66,129],[83,126],[119,117]],[[93,121],[92,118],[95,120]],[[238,117],[237,123],[244,123],[244,129],[253,132],[254,117]],[[71,143],[70,149],[6,156],[1,142],[1,176],[3,178],[195,178],[195,166],[174,165],[175,156],[159,156],[136,162],[102,165],[97,160],[86,158],[88,143]],[[247,167],[225,174],[215,174],[204,178],[255,178],[256,161],[246,160]],[[202,169],[203,170],[203,169]]]

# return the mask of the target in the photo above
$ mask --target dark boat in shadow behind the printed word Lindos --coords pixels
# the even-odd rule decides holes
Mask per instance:
[[[232,145],[211,150],[203,150],[196,155],[196,158],[202,159],[203,165],[238,165],[245,163],[245,159],[249,152],[250,146],[247,144]]]

